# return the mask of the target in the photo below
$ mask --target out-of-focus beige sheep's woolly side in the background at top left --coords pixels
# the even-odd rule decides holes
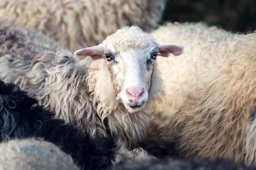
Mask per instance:
[[[156,28],[167,0],[1,0],[0,20],[40,31],[62,47],[98,45],[123,25]]]

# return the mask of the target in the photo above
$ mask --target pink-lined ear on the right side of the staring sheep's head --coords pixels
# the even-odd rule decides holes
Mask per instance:
[[[160,52],[160,55],[163,57],[168,57],[170,53],[175,56],[178,56],[183,53],[184,47],[175,44],[168,44],[164,42],[157,41],[157,48]]]

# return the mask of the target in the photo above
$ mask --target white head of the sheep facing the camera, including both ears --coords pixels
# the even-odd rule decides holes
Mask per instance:
[[[159,82],[153,76],[157,56],[168,57],[170,53],[180,55],[183,47],[159,42],[132,26],[121,28],[102,44],[77,50],[74,55],[80,59],[105,59],[116,99],[122,101],[129,113],[137,113],[153,98],[151,87],[156,88],[154,84]],[[108,85],[106,89],[112,87]]]

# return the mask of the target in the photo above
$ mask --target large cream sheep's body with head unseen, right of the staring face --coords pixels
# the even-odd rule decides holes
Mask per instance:
[[[256,105],[255,33],[234,34],[204,23],[167,23],[152,31],[185,52],[158,58],[166,96],[151,110],[153,120],[139,145],[154,156],[168,155],[171,144],[172,153],[174,147],[186,158],[244,161],[248,148],[254,153],[245,132]]]

